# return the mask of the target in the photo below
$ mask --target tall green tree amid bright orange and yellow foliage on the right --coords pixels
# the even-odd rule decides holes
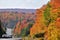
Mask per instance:
[[[45,18],[45,24],[46,24],[46,26],[48,26],[49,23],[51,22],[49,4],[47,5],[47,8],[44,10],[44,18]]]

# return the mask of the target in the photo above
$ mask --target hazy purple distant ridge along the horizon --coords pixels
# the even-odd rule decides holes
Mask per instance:
[[[0,9],[0,12],[11,11],[11,12],[32,12],[34,13],[36,9]]]

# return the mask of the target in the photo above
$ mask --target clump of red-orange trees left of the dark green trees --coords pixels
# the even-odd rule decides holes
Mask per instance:
[[[26,20],[23,20],[22,23],[20,21],[16,24],[16,28],[14,29],[15,34],[20,34],[21,30],[28,26],[29,23]]]

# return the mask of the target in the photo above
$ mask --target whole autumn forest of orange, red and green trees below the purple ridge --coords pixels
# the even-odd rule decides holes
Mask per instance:
[[[50,0],[34,13],[8,13],[0,16],[4,26],[13,29],[14,37],[26,40],[60,40],[60,0]]]

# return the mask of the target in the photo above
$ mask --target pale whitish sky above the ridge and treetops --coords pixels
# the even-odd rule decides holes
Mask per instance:
[[[37,9],[49,0],[0,0],[1,8]]]

